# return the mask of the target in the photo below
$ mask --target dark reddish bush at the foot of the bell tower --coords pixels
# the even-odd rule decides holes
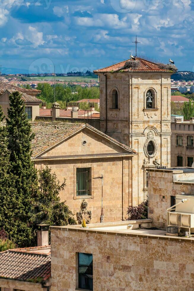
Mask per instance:
[[[147,219],[147,200],[141,202],[138,206],[129,206],[127,220]]]

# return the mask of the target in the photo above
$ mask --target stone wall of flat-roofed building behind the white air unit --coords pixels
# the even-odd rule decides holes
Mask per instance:
[[[166,209],[171,207],[171,197],[185,192],[194,193],[194,169],[171,168],[148,171],[148,218],[153,226],[166,227]]]

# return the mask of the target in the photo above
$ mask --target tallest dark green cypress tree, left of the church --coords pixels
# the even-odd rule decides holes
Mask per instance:
[[[31,161],[31,141],[34,134],[25,114],[25,106],[18,91],[9,96],[7,136],[9,143],[9,174],[15,179],[15,195],[12,199],[15,227],[14,239],[18,246],[28,246],[33,240],[30,224],[32,197],[37,189],[37,173]]]

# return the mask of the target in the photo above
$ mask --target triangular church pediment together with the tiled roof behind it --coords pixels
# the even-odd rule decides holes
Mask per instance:
[[[45,123],[42,132],[38,132],[35,127],[33,127],[33,131],[36,136],[32,143],[34,157],[136,154],[128,146],[118,143],[88,124],[66,124],[65,126],[64,123]],[[49,129],[50,134],[48,134]],[[43,139],[41,136],[45,136],[45,138]]]

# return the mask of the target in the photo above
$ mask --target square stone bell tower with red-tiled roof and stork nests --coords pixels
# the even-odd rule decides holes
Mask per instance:
[[[137,205],[147,199],[146,169],[170,167],[171,72],[141,58],[94,72],[100,78],[101,131],[138,153],[129,201]]]

